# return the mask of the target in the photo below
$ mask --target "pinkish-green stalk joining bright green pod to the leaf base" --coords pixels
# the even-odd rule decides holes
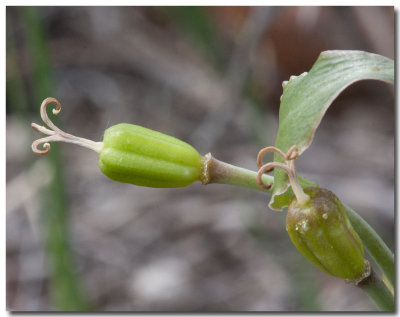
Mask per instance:
[[[211,153],[204,156],[202,166],[200,178],[203,185],[212,183],[228,184],[271,192],[271,190],[266,190],[258,185],[256,172],[217,160]],[[273,180],[272,176],[263,175],[265,185],[272,184]]]

